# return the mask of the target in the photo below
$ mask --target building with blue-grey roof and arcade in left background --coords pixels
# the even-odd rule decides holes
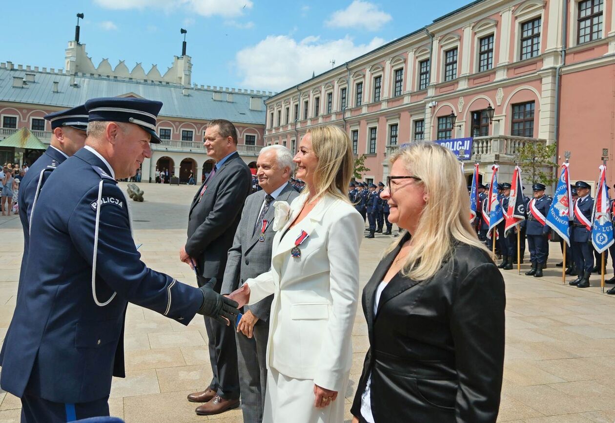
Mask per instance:
[[[77,33],[76,33],[77,38]],[[129,70],[124,60],[112,67],[107,59],[98,66],[85,52],[85,44],[68,42],[65,68],[0,63],[0,164],[28,164],[38,158],[51,139],[51,126],[43,116],[85,103],[95,97],[140,97],[164,103],[157,120],[162,143],[152,145],[152,157],[141,165],[141,182],[154,182],[156,169],[169,173],[172,182],[186,183],[192,173],[200,183],[215,162],[203,146],[207,123],[228,119],[237,127],[237,150],[253,169],[264,146],[264,100],[271,92],[203,86],[191,81],[191,57],[175,56],[164,73],[141,63]],[[30,137],[20,134],[30,131]]]

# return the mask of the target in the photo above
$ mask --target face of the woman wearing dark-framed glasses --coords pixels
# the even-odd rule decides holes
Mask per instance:
[[[410,169],[402,159],[395,160],[391,167],[391,176],[411,176]],[[392,191],[392,192],[391,192]],[[389,222],[402,229],[411,231],[418,226],[421,213],[427,203],[427,193],[423,183],[414,179],[392,179],[391,191],[386,187],[380,198],[389,204]]]

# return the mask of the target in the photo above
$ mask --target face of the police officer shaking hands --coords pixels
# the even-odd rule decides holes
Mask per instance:
[[[152,156],[150,139],[151,135],[138,125],[123,123],[121,127],[117,127],[113,163],[111,163],[117,179],[135,175],[141,163]]]

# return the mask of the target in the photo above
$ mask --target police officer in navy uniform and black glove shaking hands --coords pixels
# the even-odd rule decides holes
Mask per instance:
[[[125,376],[128,302],[183,324],[195,313],[234,321],[236,303],[149,269],[115,181],[135,174],[160,142],[161,102],[92,99],[86,145],[52,172],[30,231],[31,254],[0,355],[2,389],[22,423],[108,416],[111,376]]]

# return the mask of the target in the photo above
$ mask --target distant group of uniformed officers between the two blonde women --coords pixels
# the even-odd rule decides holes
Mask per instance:
[[[348,190],[348,198],[354,204],[354,208],[370,222],[368,235],[365,238],[375,238],[375,233],[392,235],[393,225],[389,222],[389,203],[380,198],[384,190],[384,183],[351,182]],[[386,224],[386,232],[383,232]]]

